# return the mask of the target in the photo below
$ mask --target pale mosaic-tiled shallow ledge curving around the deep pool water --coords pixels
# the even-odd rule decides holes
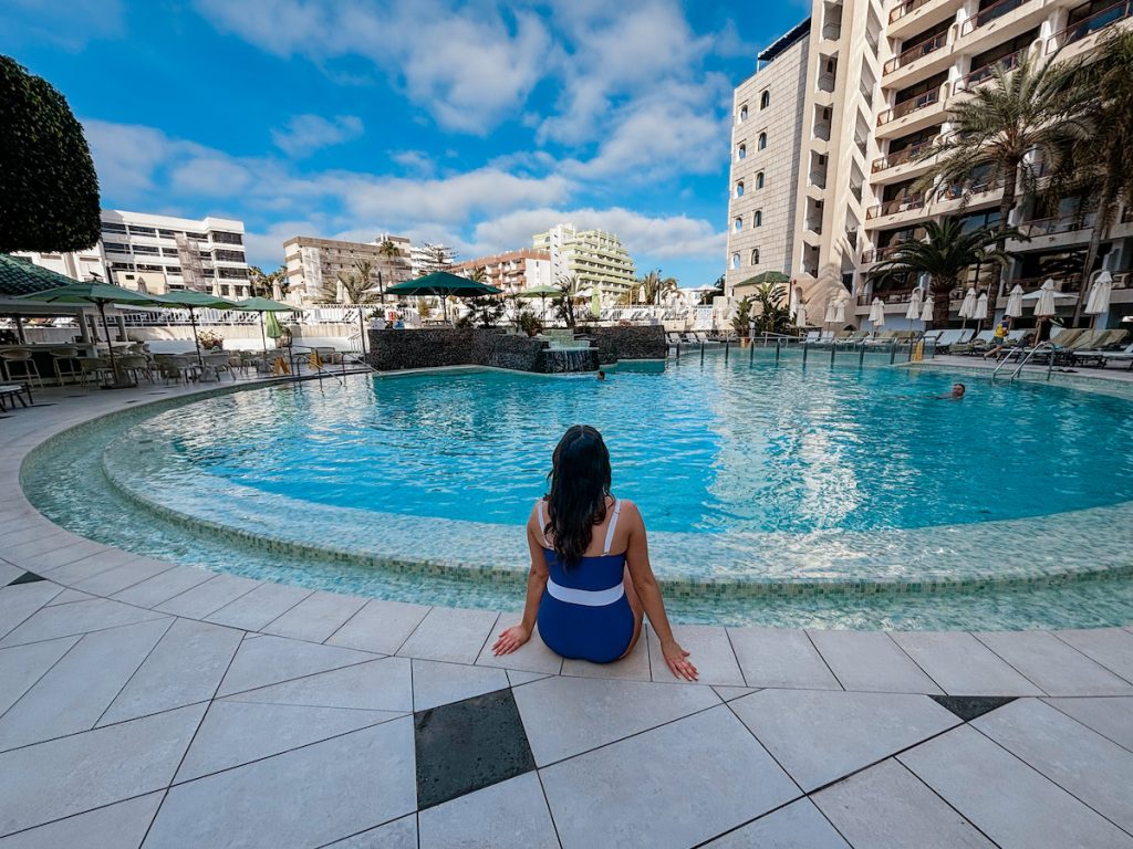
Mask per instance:
[[[45,456],[41,452],[65,448],[69,438],[88,432],[88,428],[118,427],[125,432],[170,409],[233,392],[269,391],[281,385],[290,388],[287,381],[218,387],[208,393],[155,401],[94,419],[35,448],[25,461],[22,480],[34,473],[36,457]],[[102,457],[103,469],[112,486],[143,509],[152,511],[189,531],[223,534],[233,544],[261,550],[318,556],[370,568],[445,574],[506,584],[526,577],[526,546],[522,534],[511,526],[365,511],[355,511],[361,515],[353,515],[349,509],[297,501],[220,479],[213,479],[203,487],[202,473],[196,469],[189,470],[189,473],[193,477],[191,489],[204,494],[197,498],[187,498],[184,487],[164,492],[156,488],[152,497],[143,495],[139,491],[143,487],[155,489],[144,473],[150,465],[147,463],[143,468],[138,462],[142,455],[133,443],[128,445],[128,452],[119,445],[120,455],[116,456],[112,446],[121,439],[121,434],[114,436]],[[150,460],[165,462],[167,457]],[[170,503],[188,503],[193,508],[174,509],[169,506]],[[307,514],[322,512],[320,526],[325,524],[339,529],[339,533],[350,542],[341,546],[312,544],[293,528],[297,511]],[[257,526],[264,530],[247,530]],[[373,531],[375,526],[377,532]],[[343,529],[349,532],[343,532]],[[1133,574],[1133,563],[1118,563],[1114,558],[1115,552],[1123,556],[1130,550],[1133,539],[1128,539],[1128,529],[1133,529],[1133,503],[1034,520],[869,534],[654,533],[651,547],[658,564],[658,578],[666,592],[680,595],[928,594],[952,590],[1051,588],[1127,576]],[[1100,542],[1101,539],[1106,542]],[[1005,546],[1008,550],[1026,552],[1036,561],[1024,568],[995,572],[974,565],[986,560],[987,551],[1003,550]],[[470,557],[468,554],[485,550],[494,555]],[[774,552],[775,558],[760,559],[763,550]],[[706,551],[715,559],[706,558]],[[863,555],[874,558],[872,565],[878,567],[874,574],[860,572]],[[857,563],[859,571],[829,574],[828,566],[824,567],[824,564],[838,560]],[[753,563],[763,574],[749,574],[742,578],[723,574],[729,564],[750,567]],[[942,563],[946,569],[940,569]]]

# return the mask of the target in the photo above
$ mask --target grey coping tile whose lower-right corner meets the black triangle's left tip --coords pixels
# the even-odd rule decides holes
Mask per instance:
[[[849,691],[940,693],[940,688],[880,631],[808,631]]]

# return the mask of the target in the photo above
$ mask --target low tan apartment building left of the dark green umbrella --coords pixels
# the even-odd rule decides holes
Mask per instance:
[[[390,257],[382,245],[392,242],[398,249]],[[318,303],[341,301],[339,275],[357,274],[357,264],[369,263],[374,285],[391,286],[409,280],[410,243],[403,235],[382,233],[373,241],[351,242],[341,239],[318,239],[297,235],[283,242],[283,263],[287,268],[288,291],[286,299],[291,303]]]

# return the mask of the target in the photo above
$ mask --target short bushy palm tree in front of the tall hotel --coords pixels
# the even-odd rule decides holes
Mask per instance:
[[[973,265],[1005,266],[1010,255],[999,247],[999,242],[1025,238],[1012,229],[979,228],[964,232],[955,217],[926,222],[925,231],[923,241],[909,239],[901,242],[891,258],[875,271],[881,277],[927,274],[932,293],[932,324],[940,326],[948,320],[952,290],[962,284],[964,272]]]

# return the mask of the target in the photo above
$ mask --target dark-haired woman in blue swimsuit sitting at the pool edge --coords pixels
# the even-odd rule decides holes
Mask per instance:
[[[633,650],[645,612],[670,670],[696,680],[697,668],[665,616],[641,514],[632,501],[614,498],[610,484],[602,435],[574,424],[555,447],[551,495],[527,520],[531,572],[523,619],[500,634],[493,651],[516,651],[538,623],[543,642],[564,658],[610,663]]]

